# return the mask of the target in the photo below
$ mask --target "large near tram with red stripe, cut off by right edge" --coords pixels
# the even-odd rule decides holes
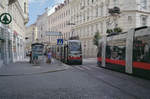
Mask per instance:
[[[99,41],[99,66],[150,79],[150,27],[130,29]]]

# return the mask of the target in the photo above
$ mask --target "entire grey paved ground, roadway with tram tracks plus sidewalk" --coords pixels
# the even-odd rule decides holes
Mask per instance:
[[[20,68],[18,68],[20,67]],[[95,59],[83,65],[33,66],[27,62],[0,68],[0,99],[149,99],[150,81],[97,67]]]

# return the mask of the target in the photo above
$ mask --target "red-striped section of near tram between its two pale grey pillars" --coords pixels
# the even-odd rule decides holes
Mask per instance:
[[[126,39],[107,40],[106,68],[125,72]]]

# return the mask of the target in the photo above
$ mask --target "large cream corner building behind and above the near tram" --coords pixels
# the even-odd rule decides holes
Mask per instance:
[[[71,23],[75,23],[74,35],[82,40],[84,57],[96,57],[93,37],[97,31],[106,35],[106,30],[115,27],[108,9],[119,7],[120,17],[115,21],[123,31],[143,25],[150,26],[149,0],[71,0]]]

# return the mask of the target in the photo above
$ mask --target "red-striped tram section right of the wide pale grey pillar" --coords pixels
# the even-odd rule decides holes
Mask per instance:
[[[133,74],[150,79],[150,33],[135,34],[132,64]]]

